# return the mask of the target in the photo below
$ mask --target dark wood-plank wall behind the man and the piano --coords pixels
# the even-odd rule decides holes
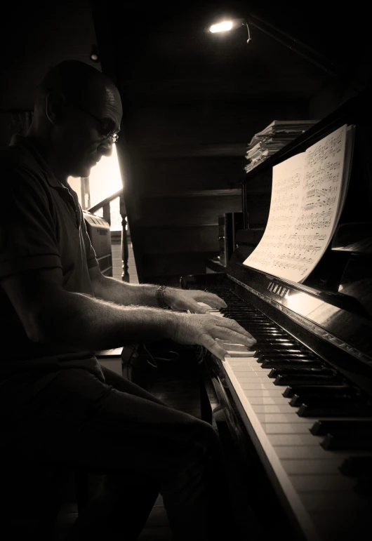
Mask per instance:
[[[248,20],[251,44],[246,27],[206,32],[225,17]],[[274,119],[320,120],[368,88],[368,21],[359,1],[4,6],[1,144],[48,67],[76,58],[107,73],[124,104],[118,149],[140,281],[205,272],[218,215],[241,209],[254,133]]]

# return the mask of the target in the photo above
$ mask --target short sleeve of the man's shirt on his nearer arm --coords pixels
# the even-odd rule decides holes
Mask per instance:
[[[3,171],[0,213],[0,278],[20,271],[62,267],[55,221],[38,179],[22,171]]]

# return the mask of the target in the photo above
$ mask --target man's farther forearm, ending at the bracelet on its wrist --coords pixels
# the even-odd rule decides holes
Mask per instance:
[[[118,305],[159,307],[156,298],[157,288],[159,286],[150,283],[133,284],[102,276],[99,286],[95,288],[95,296]]]

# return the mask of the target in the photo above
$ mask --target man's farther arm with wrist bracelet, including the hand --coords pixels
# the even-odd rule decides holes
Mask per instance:
[[[97,266],[89,269],[89,275],[96,298],[124,306],[159,307],[156,298],[159,286],[147,283],[133,284],[103,276]],[[198,302],[205,302],[213,308],[226,307],[225,302],[213,293],[170,287],[164,290],[164,302],[173,309],[191,310],[197,314],[206,313],[206,308],[198,305]]]

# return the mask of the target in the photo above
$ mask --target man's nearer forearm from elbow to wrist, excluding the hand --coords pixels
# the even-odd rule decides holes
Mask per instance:
[[[124,307],[81,293],[67,293],[40,317],[42,342],[73,349],[111,349],[173,338],[177,314],[150,307]]]

